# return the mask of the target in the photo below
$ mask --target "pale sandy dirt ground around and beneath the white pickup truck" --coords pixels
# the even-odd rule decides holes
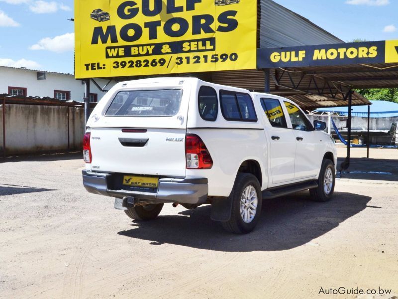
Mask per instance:
[[[339,156],[345,156],[339,148]],[[82,185],[81,154],[0,163],[1,298],[373,298],[398,294],[398,150],[352,149],[327,203],[268,200],[254,232],[202,206],[132,222]],[[341,162],[342,159],[339,159]],[[380,173],[381,172],[381,173]],[[389,296],[378,295],[392,289]],[[341,289],[342,291],[342,289]],[[319,292],[320,295],[319,295]]]

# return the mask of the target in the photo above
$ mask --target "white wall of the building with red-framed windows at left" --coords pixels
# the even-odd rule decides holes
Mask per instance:
[[[71,100],[83,102],[85,97],[85,85],[82,81],[75,80],[74,75],[46,72],[46,80],[37,80],[35,70],[0,66],[0,94],[8,93],[8,86],[27,88],[27,96],[54,97],[54,90],[65,90],[71,94]],[[108,82],[96,79],[100,87]],[[109,90],[115,82],[111,82],[106,88]],[[98,94],[98,101],[105,94],[93,83],[90,84],[90,93]]]

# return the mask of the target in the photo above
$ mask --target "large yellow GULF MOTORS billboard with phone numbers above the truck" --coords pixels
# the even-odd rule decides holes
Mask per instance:
[[[256,0],[76,0],[76,78],[256,68]]]

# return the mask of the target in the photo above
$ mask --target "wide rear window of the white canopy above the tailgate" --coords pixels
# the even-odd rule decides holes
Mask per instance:
[[[181,105],[181,89],[120,91],[105,116],[170,117]]]

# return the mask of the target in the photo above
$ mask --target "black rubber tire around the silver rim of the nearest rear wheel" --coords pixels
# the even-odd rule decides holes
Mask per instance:
[[[246,189],[246,187],[249,186],[254,187],[256,191],[257,207],[255,209],[253,219],[249,223],[247,223],[243,220],[244,216],[241,215],[241,197],[243,195],[243,191]],[[222,222],[222,227],[225,230],[235,234],[247,234],[251,232],[256,226],[258,220],[260,219],[261,207],[263,202],[261,187],[258,179],[251,173],[238,172],[235,184],[232,188],[231,194],[228,197],[228,200],[232,200],[231,218],[229,219],[229,221]]]

